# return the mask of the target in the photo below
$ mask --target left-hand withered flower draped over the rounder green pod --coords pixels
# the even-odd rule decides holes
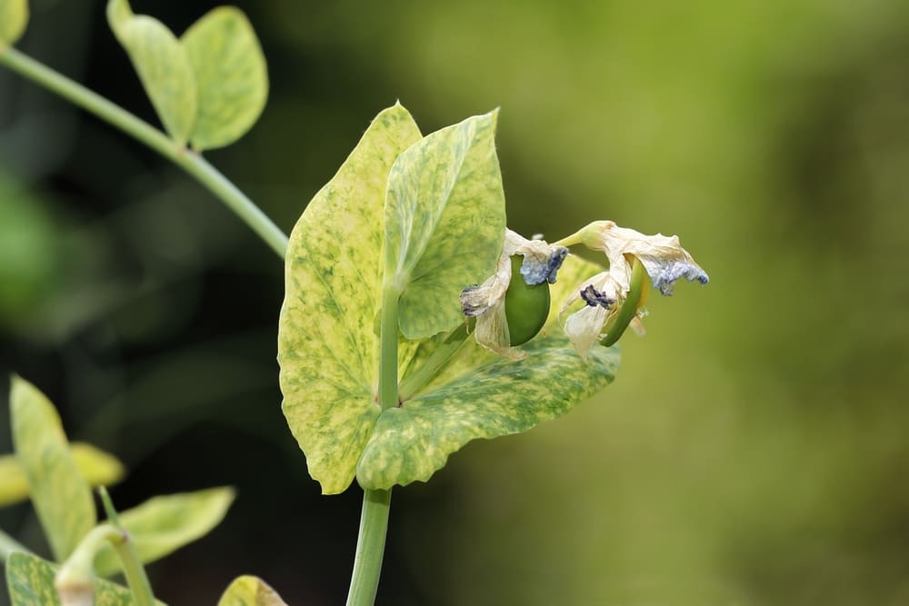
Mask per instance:
[[[474,337],[486,349],[515,360],[524,353],[511,345],[508,318],[505,315],[505,293],[512,281],[512,256],[524,257],[521,276],[528,285],[555,283],[555,274],[562,266],[568,249],[544,240],[527,240],[518,233],[505,230],[504,244],[495,273],[484,283],[468,286],[461,293],[464,315],[476,318]]]

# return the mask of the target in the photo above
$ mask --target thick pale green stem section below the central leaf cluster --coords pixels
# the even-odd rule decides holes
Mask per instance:
[[[363,493],[363,512],[360,514],[360,533],[356,538],[354,573],[350,578],[347,606],[373,606],[375,603],[391,500],[391,490]]]

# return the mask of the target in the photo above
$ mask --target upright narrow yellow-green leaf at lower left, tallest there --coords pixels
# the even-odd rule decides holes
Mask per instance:
[[[54,405],[14,376],[10,391],[16,460],[28,481],[38,520],[57,561],[95,526],[91,488],[75,465]]]

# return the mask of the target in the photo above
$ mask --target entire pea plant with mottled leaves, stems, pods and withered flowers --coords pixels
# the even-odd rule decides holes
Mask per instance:
[[[401,104],[380,112],[289,237],[208,164],[265,107],[265,58],[245,15],[215,8],[176,37],[126,0],[107,19],[164,126],[147,124],[12,45],[25,0],[0,0],[0,63],[155,149],[230,207],[285,260],[278,325],[287,424],[325,494],[364,491],[348,604],[372,604],[395,486],[427,482],[467,442],[525,432],[614,379],[615,343],[643,332],[651,290],[707,283],[675,236],[596,221],[553,243],[506,227],[497,112],[424,135]],[[581,260],[571,247],[604,253]],[[25,379],[10,394],[15,453],[0,504],[31,498],[54,561],[0,532],[15,605],[156,602],[144,564],[210,531],[234,492],[155,497],[116,512],[123,466],[67,442]],[[99,486],[99,522],[91,486]],[[127,587],[106,580],[123,573]],[[221,605],[284,601],[238,577]]]

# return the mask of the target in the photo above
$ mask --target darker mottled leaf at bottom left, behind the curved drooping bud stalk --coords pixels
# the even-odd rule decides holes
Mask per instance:
[[[6,561],[6,587],[12,606],[59,606],[54,589],[55,566],[27,553],[13,553]],[[160,601],[155,601],[164,606]],[[133,606],[133,594],[121,585],[95,579],[95,606]]]

